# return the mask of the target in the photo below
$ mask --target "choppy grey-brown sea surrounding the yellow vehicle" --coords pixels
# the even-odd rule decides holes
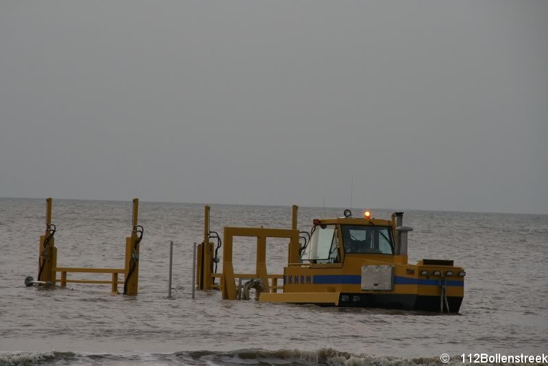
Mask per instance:
[[[211,229],[290,228],[283,206],[212,204]],[[53,200],[58,266],[123,267],[131,202]],[[342,209],[299,208],[299,229]],[[373,210],[377,218],[389,210]],[[109,285],[25,287],[37,275],[45,199],[0,199],[0,365],[462,365],[462,354],[548,354],[548,215],[407,210],[411,263],[466,269],[458,315],[223,301],[192,291],[192,243],[203,205],[140,202],[145,234],[137,297]],[[168,294],[174,241],[173,296]],[[253,272],[255,241],[234,243],[235,270]],[[282,273],[286,241],[267,243]],[[108,280],[71,274],[69,278]]]

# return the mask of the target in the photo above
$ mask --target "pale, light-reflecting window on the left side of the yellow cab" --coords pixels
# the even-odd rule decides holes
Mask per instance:
[[[312,263],[339,263],[338,234],[336,225],[316,225],[310,238],[310,252],[303,253],[303,258],[308,254]]]

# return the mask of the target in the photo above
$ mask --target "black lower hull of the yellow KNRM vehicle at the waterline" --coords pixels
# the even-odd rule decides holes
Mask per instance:
[[[343,301],[343,299],[347,301]],[[358,299],[359,297],[359,299]],[[462,297],[448,296],[449,313],[458,313]],[[341,293],[338,306],[358,308],[385,308],[403,310],[424,310],[440,312],[440,297],[425,295],[402,295],[392,293]],[[444,313],[447,308],[444,305]]]

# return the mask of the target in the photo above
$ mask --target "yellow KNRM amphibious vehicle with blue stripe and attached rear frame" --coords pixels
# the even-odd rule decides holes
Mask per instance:
[[[217,252],[221,238],[216,233],[212,236],[208,225],[206,206],[204,234],[219,240]],[[453,260],[423,259],[410,265],[408,232],[412,228],[403,226],[403,212],[394,212],[386,220],[374,219],[369,211],[355,218],[345,210],[344,217],[315,219],[310,232],[296,229],[297,206],[293,206],[292,230],[225,228],[223,273],[212,273],[213,263],[219,262],[212,243],[205,252],[203,243],[199,245],[198,288],[221,289],[228,300],[249,298],[249,289],[256,289],[260,302],[458,313],[464,296],[464,269],[453,266]],[[234,273],[233,236],[257,237],[256,273]],[[290,239],[283,275],[266,273],[266,237]],[[219,285],[214,284],[215,278],[221,278]],[[247,280],[243,287],[242,279]]]

